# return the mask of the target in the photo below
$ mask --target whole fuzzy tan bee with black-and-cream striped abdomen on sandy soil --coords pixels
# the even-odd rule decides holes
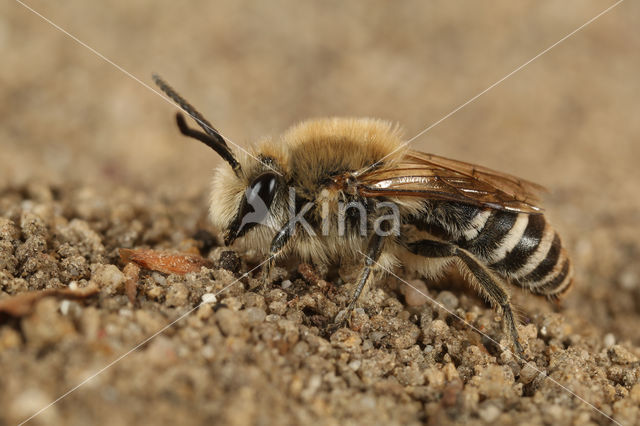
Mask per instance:
[[[411,150],[397,127],[374,119],[305,121],[251,152],[233,152],[198,111],[154,80],[204,130],[178,113],[182,134],[227,163],[216,170],[210,203],[226,245],[243,238],[267,254],[265,278],[283,256],[362,263],[342,321],[374,276],[401,265],[437,278],[454,265],[502,313],[521,355],[507,283],[550,298],[572,286],[571,261],[535,183]]]

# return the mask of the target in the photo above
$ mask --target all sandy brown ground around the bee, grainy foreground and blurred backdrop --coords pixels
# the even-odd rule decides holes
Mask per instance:
[[[163,75],[240,145],[329,115],[388,119],[412,137],[609,4],[29,2],[144,84]],[[318,268],[318,281],[291,261],[252,291],[255,272],[238,278],[262,258],[220,247],[206,219],[217,156],[178,135],[156,94],[3,2],[0,298],[100,291],[0,319],[0,424],[117,360],[30,423],[609,424],[604,413],[634,424],[639,17],[623,2],[413,142],[550,188],[576,286],[561,306],[514,291],[530,360],[518,364],[396,280],[331,336],[348,268]],[[143,273],[132,305],[118,248],[201,253],[213,266]],[[404,278],[502,337],[455,277]]]

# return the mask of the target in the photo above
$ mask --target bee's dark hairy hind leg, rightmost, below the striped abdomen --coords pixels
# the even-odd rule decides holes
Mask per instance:
[[[433,240],[421,240],[407,244],[410,252],[425,257],[455,257],[461,263],[464,269],[470,274],[472,279],[478,286],[478,289],[484,294],[493,306],[499,306],[502,310],[503,322],[509,332],[509,337],[513,343],[513,347],[518,358],[524,359],[522,346],[520,345],[518,329],[516,327],[513,310],[509,301],[509,294],[500,285],[494,275],[483,266],[468,251],[460,247]]]

